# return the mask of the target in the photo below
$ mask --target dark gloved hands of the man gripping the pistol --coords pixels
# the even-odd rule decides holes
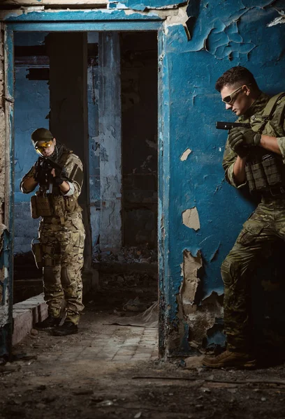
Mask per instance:
[[[249,147],[256,147],[261,142],[261,134],[252,131],[251,128],[236,127],[228,134],[228,144],[240,157],[246,157]]]

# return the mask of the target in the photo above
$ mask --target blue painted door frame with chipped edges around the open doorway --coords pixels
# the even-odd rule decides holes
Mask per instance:
[[[169,323],[168,284],[168,203],[170,180],[170,101],[169,101],[169,73],[166,56],[163,19],[158,15],[142,15],[131,13],[126,15],[124,10],[89,10],[89,11],[59,11],[59,12],[30,12],[16,15],[7,14],[3,20],[4,36],[4,65],[5,75],[5,115],[6,115],[6,177],[9,188],[6,188],[5,223],[8,226],[8,247],[10,249],[7,267],[8,280],[6,286],[13,289],[13,220],[14,220],[14,42],[15,31],[156,31],[158,34],[158,250],[159,250],[159,355],[166,355],[167,330]],[[6,323],[10,325],[9,341],[13,334],[13,296],[10,292],[8,317]],[[1,339],[1,335],[0,335]],[[4,342],[5,344],[5,342]],[[0,341],[1,346],[1,341]],[[11,344],[6,345],[8,352]]]

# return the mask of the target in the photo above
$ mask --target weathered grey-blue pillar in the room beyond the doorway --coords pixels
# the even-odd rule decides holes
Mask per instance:
[[[122,111],[117,31],[99,34],[100,249],[122,247]]]

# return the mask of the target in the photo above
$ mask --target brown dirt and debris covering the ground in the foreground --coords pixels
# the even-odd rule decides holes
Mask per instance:
[[[0,365],[0,418],[285,417],[284,364],[214,370],[202,367],[200,357],[113,362],[100,353],[80,355],[96,336],[94,323],[106,330],[126,298],[109,303],[103,291],[89,296],[78,335],[33,331],[14,348],[13,362]]]

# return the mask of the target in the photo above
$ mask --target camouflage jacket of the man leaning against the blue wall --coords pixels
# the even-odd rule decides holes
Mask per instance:
[[[263,110],[265,109],[266,104],[270,100],[270,96],[265,93],[260,94],[256,101],[251,105],[249,110],[247,110],[246,114],[242,115],[238,118],[237,122],[243,123],[250,123],[251,126],[254,126],[255,121],[258,120],[258,115],[261,115]],[[275,112],[272,115],[270,121],[265,124],[265,127],[262,131],[265,135],[270,135],[272,137],[277,137],[277,142],[279,148],[282,153],[282,160],[285,164],[285,96],[283,96],[277,102],[277,106],[275,108]],[[249,158],[254,159],[255,154],[262,152],[261,147],[254,147],[254,150],[251,152],[251,156]],[[268,151],[267,151],[268,153]],[[247,182],[244,184],[236,184],[235,177],[233,175],[233,166],[235,161],[238,157],[238,154],[235,154],[231,147],[228,145],[228,140],[226,141],[226,147],[224,151],[224,159],[223,159],[223,168],[225,170],[225,177],[229,184],[235,186],[235,188],[241,188],[245,186]]]

